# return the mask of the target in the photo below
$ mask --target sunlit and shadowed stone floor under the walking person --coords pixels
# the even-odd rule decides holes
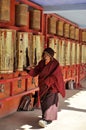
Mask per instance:
[[[0,119],[0,130],[86,130],[86,79],[82,89],[66,90],[66,97],[59,95],[58,119],[46,128],[38,126],[41,110],[16,112]]]

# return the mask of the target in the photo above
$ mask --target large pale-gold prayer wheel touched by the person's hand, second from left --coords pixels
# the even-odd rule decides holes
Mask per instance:
[[[17,32],[16,52],[17,52],[16,69],[18,71],[23,71],[23,68],[27,67],[27,57],[28,57],[28,33],[27,32]]]

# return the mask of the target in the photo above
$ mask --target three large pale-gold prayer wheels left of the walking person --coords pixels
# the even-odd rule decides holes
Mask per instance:
[[[41,59],[44,36],[0,29],[0,73],[23,71]]]

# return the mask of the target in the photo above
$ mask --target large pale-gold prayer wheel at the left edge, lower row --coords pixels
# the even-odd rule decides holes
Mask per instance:
[[[15,34],[14,30],[0,29],[0,73],[13,72]]]

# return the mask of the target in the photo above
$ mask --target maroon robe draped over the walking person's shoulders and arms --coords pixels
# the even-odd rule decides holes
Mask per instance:
[[[38,86],[40,96],[44,95],[49,89],[51,93],[60,93],[65,97],[65,86],[61,68],[56,59],[53,58],[47,65],[45,61],[41,60],[39,64],[32,69],[29,74],[31,76],[39,75]]]

